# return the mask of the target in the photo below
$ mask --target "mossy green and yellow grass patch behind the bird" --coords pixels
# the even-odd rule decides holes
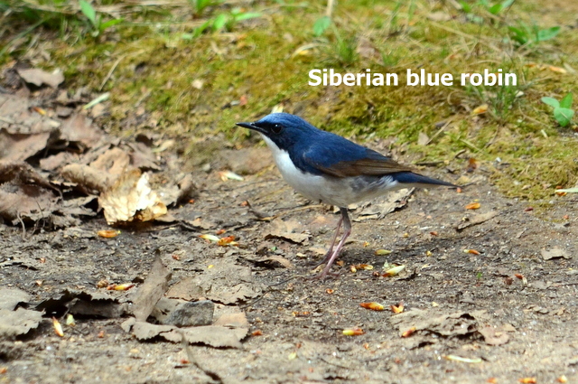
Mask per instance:
[[[93,5],[97,12],[104,9]],[[572,12],[560,9],[541,22],[545,2],[537,0],[515,2],[498,14],[473,5],[469,14],[475,17],[425,0],[340,2],[331,25],[314,33],[325,5],[213,2],[201,13],[186,2],[123,8],[123,23],[93,37],[78,7],[63,2],[67,13],[33,10],[23,23],[14,11],[0,20],[0,41],[8,47],[0,63],[8,65],[42,46],[50,59],[40,66],[61,67],[70,89],[89,86],[95,92],[116,64],[102,89],[111,92],[111,115],[101,123],[121,135],[145,129],[186,137],[196,148],[208,136],[218,137],[222,145],[239,145],[246,143],[247,132],[235,127],[236,121],[262,117],[283,105],[287,112],[361,142],[396,136],[395,145],[404,145],[415,162],[447,161],[460,170],[469,156],[475,157],[508,196],[545,198],[557,185],[576,183],[578,144],[570,138],[575,123],[558,126],[551,108],[540,101],[577,89],[575,74],[548,69],[578,70],[578,36],[564,27],[573,22]],[[230,32],[196,30],[237,7],[236,13],[262,15],[229,25]],[[431,20],[434,13],[450,17]],[[104,22],[112,18],[102,17]],[[34,20],[39,25],[29,31]],[[562,28],[551,40],[520,46],[511,39],[510,27],[517,25]],[[313,68],[395,72],[400,84],[311,87],[308,72]],[[407,87],[406,70],[421,68],[452,73],[454,84]],[[517,86],[461,87],[462,72],[486,68],[516,73]],[[202,89],[193,87],[193,80],[202,80]],[[241,97],[247,104],[235,105]],[[154,124],[126,124],[137,100]],[[473,116],[471,111],[482,104],[488,112]],[[420,132],[432,137],[441,121],[450,124],[433,143],[417,145]],[[454,158],[461,150],[466,153]]]

